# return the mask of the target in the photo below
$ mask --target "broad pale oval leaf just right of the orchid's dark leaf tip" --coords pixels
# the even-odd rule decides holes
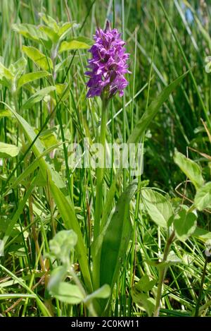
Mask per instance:
[[[142,189],[141,195],[148,215],[158,224],[159,227],[167,228],[168,219],[173,214],[172,205],[164,195],[151,190],[150,188]]]

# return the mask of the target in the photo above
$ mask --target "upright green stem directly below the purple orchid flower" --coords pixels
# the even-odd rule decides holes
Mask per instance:
[[[98,140],[103,146],[103,167],[96,169],[96,200],[95,200],[95,214],[94,214],[94,239],[97,238],[100,232],[100,220],[103,208],[103,178],[106,164],[106,119],[107,119],[108,99],[103,99],[102,114],[101,114],[101,133]]]

